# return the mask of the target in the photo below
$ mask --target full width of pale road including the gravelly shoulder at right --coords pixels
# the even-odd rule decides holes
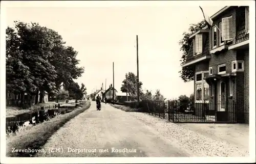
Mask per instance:
[[[96,102],[56,131],[36,157],[248,156],[245,147],[217,140],[148,114]]]

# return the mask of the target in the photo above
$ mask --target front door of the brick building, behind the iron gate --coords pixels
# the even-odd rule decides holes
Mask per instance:
[[[227,121],[226,109],[226,83],[220,80],[218,83],[218,110],[217,121]]]

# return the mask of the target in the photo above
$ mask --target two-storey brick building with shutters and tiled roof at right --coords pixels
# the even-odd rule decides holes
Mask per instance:
[[[208,104],[216,121],[249,123],[249,7],[226,6],[210,18],[210,29],[189,37],[182,65],[195,70],[195,104]]]

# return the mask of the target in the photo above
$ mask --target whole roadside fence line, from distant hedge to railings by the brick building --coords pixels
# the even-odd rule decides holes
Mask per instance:
[[[126,101],[118,103],[131,108],[139,108],[138,112],[148,113],[175,123],[237,123],[238,116],[233,100],[224,102],[202,101],[200,103],[168,101]]]

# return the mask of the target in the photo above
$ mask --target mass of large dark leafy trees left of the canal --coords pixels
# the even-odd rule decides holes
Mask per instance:
[[[40,91],[39,102],[42,102],[45,91],[58,94],[63,85],[69,94],[76,95],[79,85],[73,79],[84,72],[83,67],[77,66],[78,52],[66,46],[52,29],[33,22],[14,23],[14,28],[8,26],[6,30],[7,93],[20,94],[22,100],[25,93],[35,94],[38,100]],[[83,85],[83,92],[84,89]]]

